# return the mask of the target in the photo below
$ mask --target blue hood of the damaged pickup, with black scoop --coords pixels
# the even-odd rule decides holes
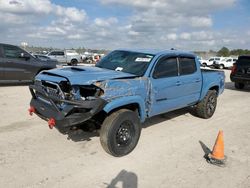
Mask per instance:
[[[134,77],[135,75],[91,66],[65,67],[43,71],[36,79],[60,82],[67,78],[72,85],[92,84],[96,81]]]

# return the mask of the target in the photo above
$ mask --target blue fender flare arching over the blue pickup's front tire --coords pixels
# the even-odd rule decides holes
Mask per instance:
[[[119,97],[117,99],[112,100],[109,102],[105,107],[104,111],[106,113],[111,112],[112,110],[129,105],[129,104],[138,104],[139,105],[139,114],[140,114],[140,120],[141,122],[145,121],[146,118],[146,106],[145,101],[140,96],[125,96],[125,97]]]

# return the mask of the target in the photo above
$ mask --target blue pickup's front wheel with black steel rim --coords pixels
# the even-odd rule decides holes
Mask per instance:
[[[121,109],[113,112],[103,122],[100,141],[103,149],[115,156],[129,154],[136,147],[141,134],[138,114]]]

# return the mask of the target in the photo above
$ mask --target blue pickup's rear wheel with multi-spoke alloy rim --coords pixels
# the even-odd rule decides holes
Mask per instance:
[[[195,114],[203,119],[211,118],[217,106],[217,92],[209,90],[207,95],[199,102],[195,108]]]

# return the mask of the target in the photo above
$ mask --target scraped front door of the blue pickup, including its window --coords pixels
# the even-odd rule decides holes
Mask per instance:
[[[180,79],[177,57],[162,57],[157,62],[151,77],[149,116],[154,116],[181,106],[179,97]]]

